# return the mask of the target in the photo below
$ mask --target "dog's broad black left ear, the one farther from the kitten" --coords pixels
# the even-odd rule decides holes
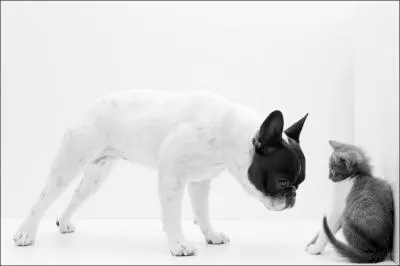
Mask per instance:
[[[268,115],[261,124],[258,132],[258,142],[262,145],[274,145],[280,143],[283,131],[283,115],[276,110]]]

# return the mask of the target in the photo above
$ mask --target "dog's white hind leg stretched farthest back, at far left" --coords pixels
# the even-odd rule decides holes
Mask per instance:
[[[96,150],[96,139],[86,129],[69,130],[65,134],[39,200],[14,235],[14,243],[17,246],[28,246],[34,243],[44,212],[82,171],[87,161],[96,154]]]

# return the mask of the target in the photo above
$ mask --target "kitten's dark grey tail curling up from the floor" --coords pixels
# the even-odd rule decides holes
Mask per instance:
[[[323,220],[325,234],[328,236],[329,242],[333,245],[335,250],[343,257],[348,258],[353,263],[376,263],[385,260],[387,252],[366,252],[356,249],[338,241],[329,229],[326,217]]]

